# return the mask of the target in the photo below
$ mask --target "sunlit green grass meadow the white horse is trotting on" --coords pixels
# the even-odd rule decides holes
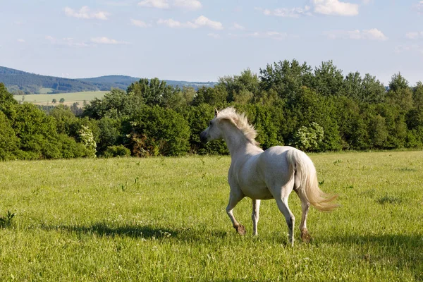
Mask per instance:
[[[225,208],[229,157],[0,163],[0,281],[423,281],[423,152],[312,154],[341,207],[295,247],[274,200]]]

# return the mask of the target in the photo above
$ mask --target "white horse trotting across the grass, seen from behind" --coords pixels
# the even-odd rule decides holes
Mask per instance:
[[[228,183],[231,187],[226,213],[233,228],[245,235],[245,227],[236,221],[233,208],[244,197],[252,199],[252,228],[257,235],[260,200],[275,199],[278,208],[285,216],[289,229],[290,244],[294,245],[295,217],[288,207],[290,192],[297,192],[301,200],[301,238],[309,242],[306,219],[309,205],[321,211],[338,207],[330,202],[337,195],[326,195],[319,189],[316,168],[307,155],[293,147],[276,146],[263,151],[255,141],[257,132],[248,124],[244,114],[237,114],[233,107],[215,111],[209,127],[200,134],[202,142],[225,140],[231,154],[231,167]]]

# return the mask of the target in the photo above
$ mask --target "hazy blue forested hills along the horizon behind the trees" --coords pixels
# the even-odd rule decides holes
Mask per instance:
[[[49,75],[37,75],[0,66],[0,82],[3,82],[13,94],[54,94],[82,91],[109,91],[111,88],[126,90],[140,78],[125,75],[105,75],[99,78],[58,78]],[[168,85],[188,86],[197,89],[202,86],[212,87],[216,82],[188,82],[165,80]]]

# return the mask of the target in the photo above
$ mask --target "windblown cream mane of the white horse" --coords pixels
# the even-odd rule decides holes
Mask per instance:
[[[248,141],[252,142],[253,145],[259,145],[259,142],[255,140],[257,131],[255,130],[254,126],[248,123],[247,117],[244,113],[238,114],[233,106],[229,106],[228,108],[217,112],[216,119],[227,119],[228,121],[231,121],[233,125],[235,125],[239,130],[241,130],[242,133],[244,133]]]

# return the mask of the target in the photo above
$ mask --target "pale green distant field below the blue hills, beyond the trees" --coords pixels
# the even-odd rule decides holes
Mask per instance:
[[[47,88],[43,88],[47,90]],[[73,104],[78,102],[82,105],[85,101],[90,102],[94,97],[102,99],[104,94],[109,91],[86,91],[86,92],[73,92],[73,93],[61,93],[61,94],[30,94],[30,95],[23,95],[25,97],[25,102],[30,102],[39,105],[51,105],[51,101],[56,99],[57,104],[59,104],[59,100],[61,98],[65,99],[64,104]],[[15,95],[15,99],[17,101],[22,101],[22,95]]]

